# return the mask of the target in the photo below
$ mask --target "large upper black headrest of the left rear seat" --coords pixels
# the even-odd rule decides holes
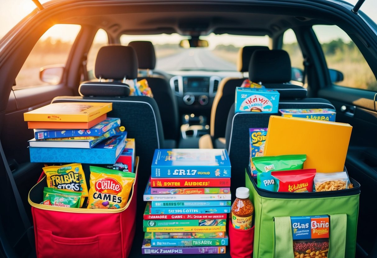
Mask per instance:
[[[138,59],[135,50],[127,46],[104,46],[98,50],[95,77],[122,80],[138,77]]]

